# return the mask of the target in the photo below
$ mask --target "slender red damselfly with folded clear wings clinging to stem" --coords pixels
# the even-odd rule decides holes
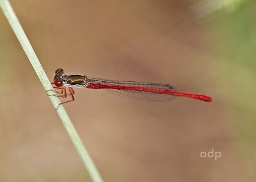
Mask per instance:
[[[74,101],[74,90],[72,87],[87,89],[105,89],[115,95],[123,96],[138,101],[170,101],[176,96],[199,99],[212,102],[212,98],[205,95],[196,95],[177,92],[177,89],[169,84],[141,83],[135,81],[115,81],[110,79],[88,78],[84,75],[63,75],[63,69],[57,69],[54,76],[54,92],[58,97],[71,96],[69,101]],[[60,90],[56,90],[60,89]]]

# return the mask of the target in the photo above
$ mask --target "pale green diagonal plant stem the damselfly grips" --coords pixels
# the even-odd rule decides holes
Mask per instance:
[[[35,52],[32,49],[32,46],[30,45],[29,40],[27,39],[27,36],[25,35],[21,27],[20,22],[18,21],[18,18],[13,12],[10,2],[7,0],[0,0],[0,6],[4,12],[4,15],[9,21],[9,24],[11,25],[13,32],[15,33],[16,37],[20,41],[20,44],[23,47],[24,52],[27,55],[27,58],[29,58],[30,63],[34,67],[35,72],[37,73],[38,78],[43,84],[44,89],[52,90],[51,83],[48,77],[46,76],[46,73],[44,72],[43,67],[40,64],[40,61],[38,60],[37,55],[35,55]],[[49,92],[51,93],[49,93],[48,95],[54,94],[54,92],[52,91],[49,91]],[[54,105],[54,108],[57,108],[60,104],[59,98],[57,98],[57,96],[49,96],[49,98],[51,99],[52,104]],[[87,170],[91,175],[91,178],[93,179],[93,181],[102,181],[101,175],[96,169],[96,166],[94,165],[93,160],[91,160],[90,155],[85,149],[85,146],[82,143],[82,140],[77,134],[76,129],[74,129],[74,126],[71,123],[71,120],[69,119],[68,114],[66,113],[62,105],[58,107],[57,113],[59,114],[60,120],[62,120],[62,123],[66,128],[66,131],[68,132],[71,140],[73,141],[73,144],[77,149],[77,152],[82,158],[82,161],[84,161],[85,167],[87,167]]]

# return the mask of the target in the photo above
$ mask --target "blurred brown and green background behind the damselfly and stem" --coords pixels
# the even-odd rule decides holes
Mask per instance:
[[[10,2],[51,81],[62,68],[212,96],[75,89],[65,108],[104,181],[255,180],[255,1]],[[0,28],[0,181],[91,181],[2,11]]]

